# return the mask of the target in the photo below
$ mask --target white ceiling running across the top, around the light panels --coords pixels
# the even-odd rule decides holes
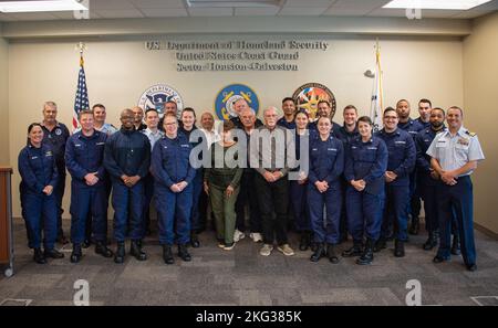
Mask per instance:
[[[6,1],[6,0],[0,0]],[[10,0],[12,1],[12,0]],[[86,0],[90,19],[170,17],[405,17],[403,9],[383,9],[390,0],[274,0],[276,7],[191,8],[187,0]],[[218,0],[227,1],[227,0]],[[231,2],[247,0],[230,0]],[[256,2],[255,0],[253,2]],[[446,0],[440,0],[446,1]],[[498,11],[498,0],[467,10],[422,10],[422,18],[474,19]],[[0,13],[0,21],[70,20],[73,12]]]

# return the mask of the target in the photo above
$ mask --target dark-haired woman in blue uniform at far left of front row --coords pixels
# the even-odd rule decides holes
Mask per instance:
[[[62,258],[64,254],[54,248],[56,239],[58,209],[53,193],[58,181],[55,158],[51,148],[42,144],[43,129],[33,123],[28,127],[28,145],[19,154],[21,173],[22,218],[28,231],[29,247],[33,248],[33,260],[46,263],[46,257]],[[44,253],[41,252],[43,230]]]

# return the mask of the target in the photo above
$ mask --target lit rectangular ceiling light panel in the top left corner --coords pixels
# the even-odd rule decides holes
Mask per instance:
[[[40,12],[89,10],[75,0],[54,1],[0,1],[1,12]]]

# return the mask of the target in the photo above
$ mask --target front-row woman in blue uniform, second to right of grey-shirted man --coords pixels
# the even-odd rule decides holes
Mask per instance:
[[[360,137],[346,150],[344,177],[346,189],[347,228],[353,236],[353,247],[343,256],[360,256],[357,264],[371,264],[373,247],[381,235],[384,203],[384,173],[387,169],[387,147],[372,135],[372,120],[362,116],[357,120]],[[363,237],[366,243],[363,247]],[[363,247],[363,250],[362,250]]]

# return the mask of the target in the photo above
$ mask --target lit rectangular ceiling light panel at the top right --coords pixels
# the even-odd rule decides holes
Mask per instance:
[[[382,8],[468,10],[491,0],[393,0]]]

